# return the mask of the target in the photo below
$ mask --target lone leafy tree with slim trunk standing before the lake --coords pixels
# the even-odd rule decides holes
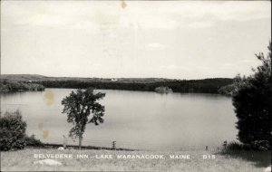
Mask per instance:
[[[67,121],[73,123],[73,128],[70,130],[69,137],[79,139],[79,148],[82,147],[83,133],[87,123],[99,125],[103,122],[104,106],[97,100],[105,97],[102,92],[94,93],[92,88],[85,91],[78,89],[72,91],[69,96],[62,100],[64,105],[63,113],[67,114]],[[89,118],[92,114],[92,118]]]

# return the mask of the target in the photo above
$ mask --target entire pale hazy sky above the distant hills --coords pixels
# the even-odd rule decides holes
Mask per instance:
[[[99,78],[249,75],[270,1],[1,1],[1,74]]]

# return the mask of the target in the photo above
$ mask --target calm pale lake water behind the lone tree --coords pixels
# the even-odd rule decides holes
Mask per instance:
[[[46,89],[1,94],[1,111],[22,111],[27,134],[48,143],[63,143],[71,124],[61,101],[72,89]],[[217,148],[235,140],[238,130],[231,99],[214,94],[146,91],[105,92],[104,123],[87,124],[83,145],[117,148]],[[77,140],[68,139],[68,144]]]

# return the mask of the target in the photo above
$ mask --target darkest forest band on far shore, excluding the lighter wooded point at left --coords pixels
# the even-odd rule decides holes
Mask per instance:
[[[69,89],[105,89],[105,90],[125,90],[125,91],[155,91],[157,87],[168,87],[174,92],[199,92],[199,93],[219,93],[219,89],[231,84],[233,79],[215,78],[204,80],[183,80],[183,81],[163,81],[152,83],[137,82],[89,82],[89,81],[39,81],[37,83],[46,88],[69,88]]]

